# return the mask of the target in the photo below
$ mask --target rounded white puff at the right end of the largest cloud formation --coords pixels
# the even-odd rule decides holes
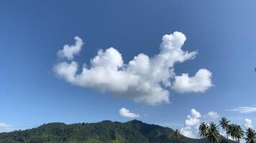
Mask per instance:
[[[194,77],[189,77],[188,74],[175,76],[173,89],[180,93],[185,92],[205,92],[211,84],[211,71],[207,69],[199,69]]]

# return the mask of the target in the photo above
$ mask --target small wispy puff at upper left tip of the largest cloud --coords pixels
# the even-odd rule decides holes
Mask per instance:
[[[75,36],[76,44],[69,46],[66,44],[63,49],[58,51],[57,55],[62,58],[72,60],[76,54],[78,54],[83,46],[83,40],[79,36]]]

